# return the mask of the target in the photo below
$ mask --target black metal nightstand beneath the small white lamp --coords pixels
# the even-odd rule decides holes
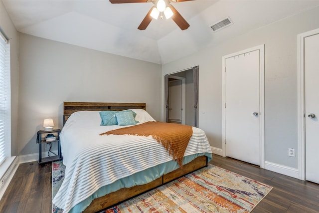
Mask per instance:
[[[36,143],[39,145],[39,161],[38,161],[39,164],[45,164],[52,161],[62,160],[60,133],[61,133],[60,129],[54,129],[52,131],[44,131],[44,130],[38,131],[36,136]],[[53,138],[53,140],[46,141],[45,136],[48,134],[53,134],[55,136],[55,139]],[[42,135],[44,135],[44,137]],[[55,143],[55,142],[58,143],[58,155],[42,158],[42,144]]]

